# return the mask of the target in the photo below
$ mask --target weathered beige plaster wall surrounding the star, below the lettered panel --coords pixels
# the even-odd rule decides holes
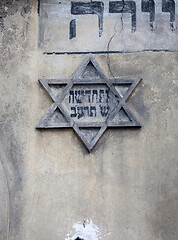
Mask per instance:
[[[38,78],[86,57],[42,54],[37,6],[0,3],[0,239],[74,240],[84,220],[87,240],[177,239],[178,54],[94,55],[107,76],[143,79],[128,101],[143,127],[109,129],[88,154],[72,129],[35,129],[52,104]]]

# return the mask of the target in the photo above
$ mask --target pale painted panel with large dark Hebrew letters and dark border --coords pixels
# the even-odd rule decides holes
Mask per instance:
[[[44,53],[178,50],[175,0],[39,1]]]

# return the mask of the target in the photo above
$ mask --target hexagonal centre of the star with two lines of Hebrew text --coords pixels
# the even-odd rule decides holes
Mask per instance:
[[[75,122],[104,122],[116,106],[114,100],[107,85],[74,85],[66,96],[66,106],[68,103],[67,108]]]

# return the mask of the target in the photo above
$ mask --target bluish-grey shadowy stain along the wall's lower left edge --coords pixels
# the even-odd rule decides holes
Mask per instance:
[[[0,240],[19,233],[22,181],[17,165],[20,149],[8,130],[0,125]],[[10,128],[11,129],[11,128]]]

